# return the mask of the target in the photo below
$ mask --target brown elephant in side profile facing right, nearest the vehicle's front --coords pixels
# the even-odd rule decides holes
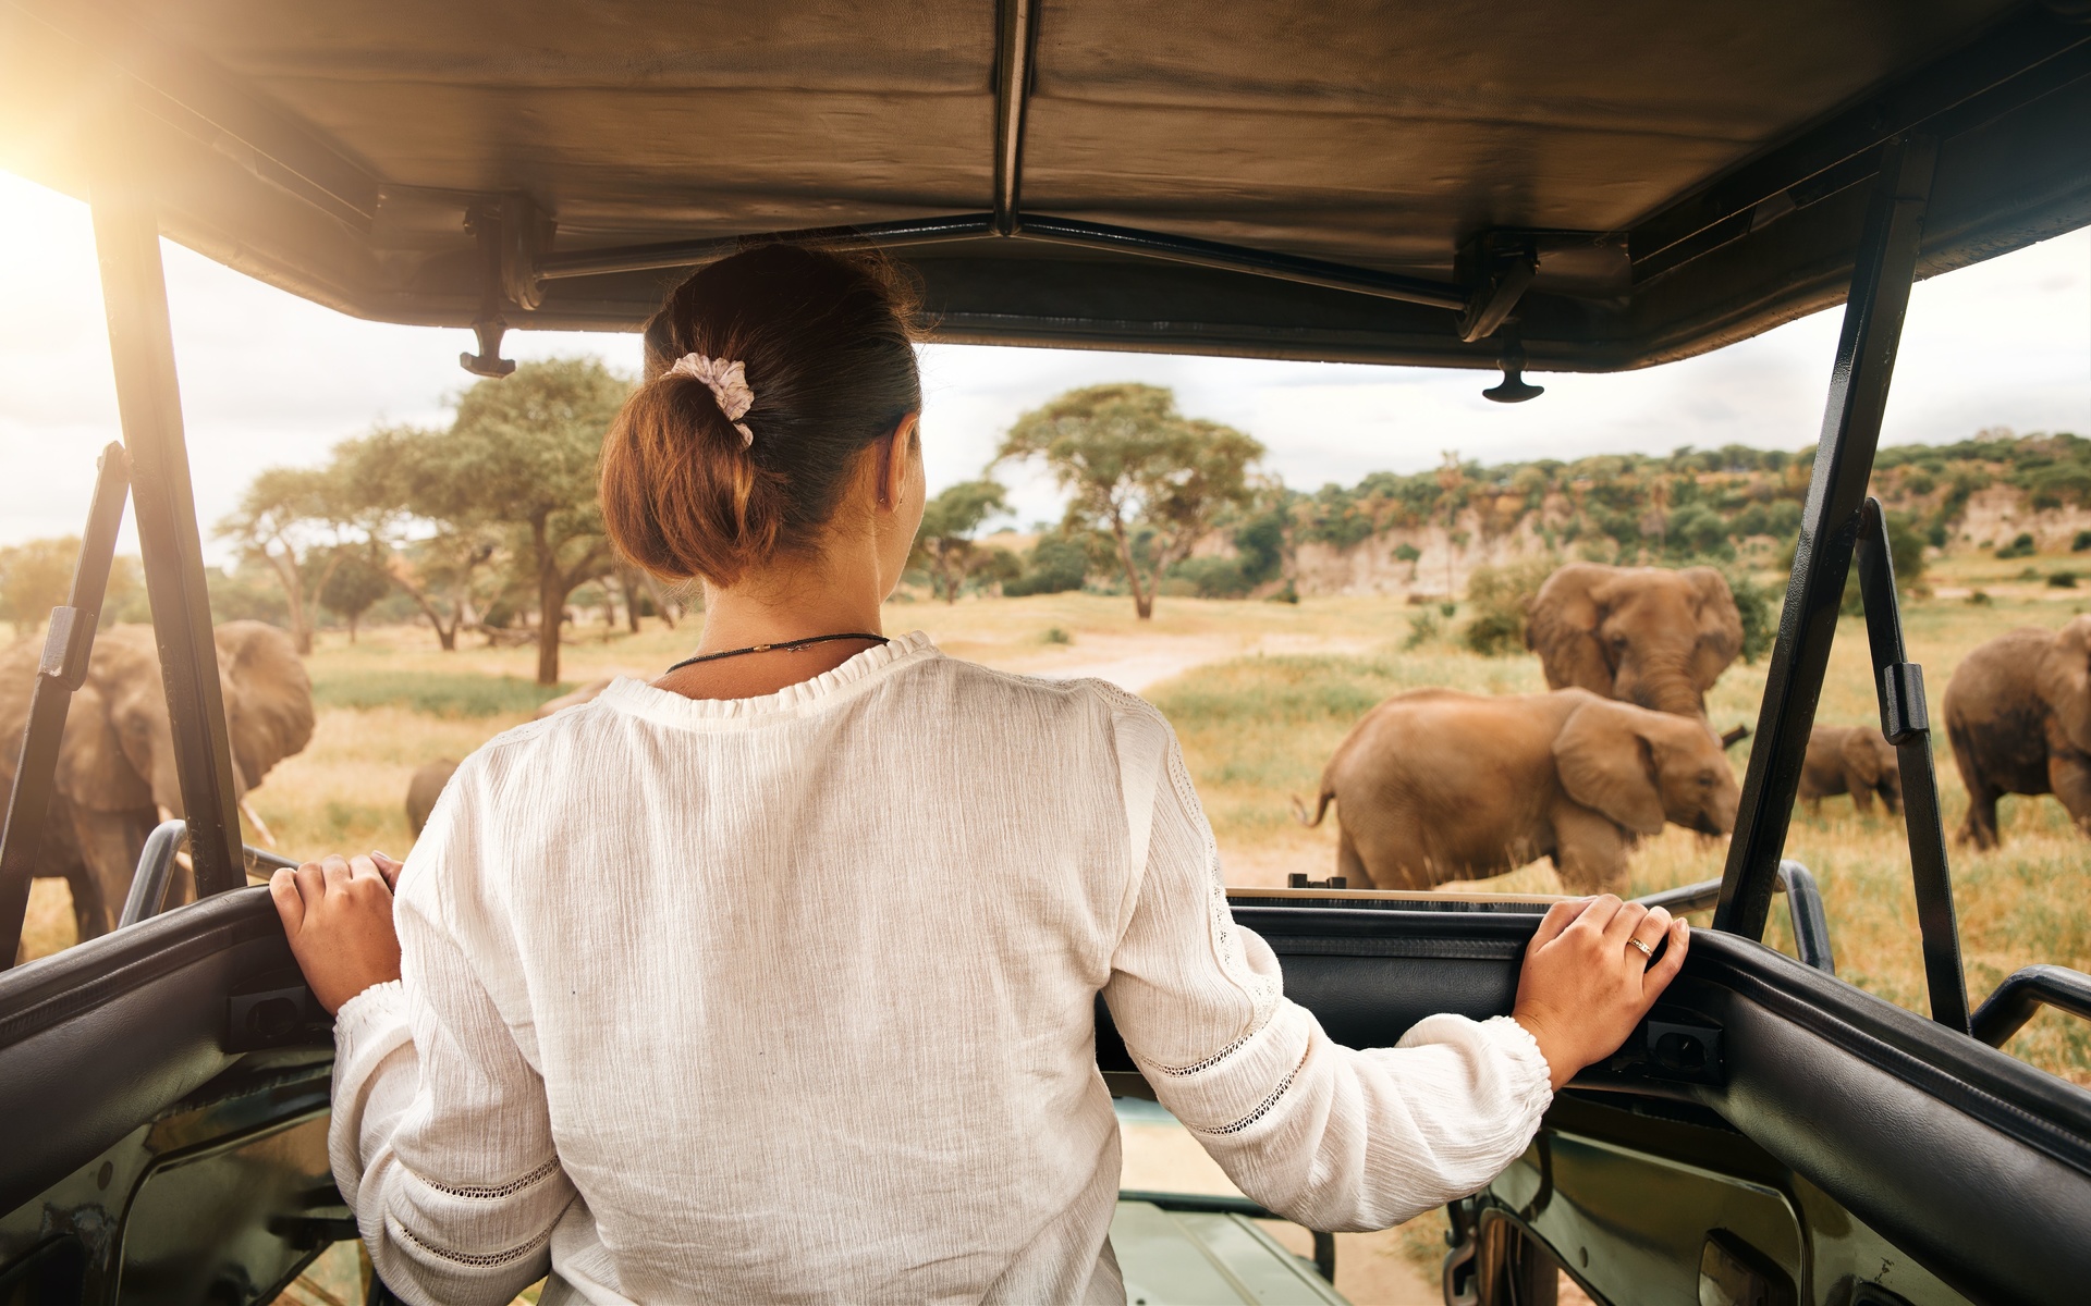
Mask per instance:
[[[1411,690],[1365,717],[1322,773],[1336,802],[1336,869],[1351,886],[1432,888],[1554,859],[1568,892],[1627,888],[1627,850],[1675,823],[1736,827],[1740,792],[1696,717],[1589,690]]]

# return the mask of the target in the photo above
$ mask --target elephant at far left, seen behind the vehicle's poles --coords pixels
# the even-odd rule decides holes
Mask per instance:
[[[312,679],[291,637],[259,621],[217,627],[215,644],[232,777],[245,800],[276,763],[312,740]],[[0,652],[4,786],[15,782],[40,654],[36,639]],[[71,886],[79,938],[115,926],[144,838],[163,813],[182,813],[182,784],[159,652],[151,627],[111,627],[96,635],[88,679],[65,717],[56,790],[36,867],[36,876],[63,878]]]

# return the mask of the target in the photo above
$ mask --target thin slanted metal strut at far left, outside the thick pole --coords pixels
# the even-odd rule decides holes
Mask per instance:
[[[79,535],[79,558],[73,562],[73,587],[65,596],[65,606],[50,612],[36,687],[29,690],[29,723],[15,756],[6,823],[0,825],[0,970],[15,965],[15,955],[21,951],[29,880],[44,850],[44,821],[50,817],[59,779],[65,713],[73,704],[73,692],[88,679],[94,623],[100,621],[102,596],[109,591],[109,564],[115,560],[125,497],[130,497],[130,458],[123,456],[123,445],[109,445],[94,476],[88,529]]]

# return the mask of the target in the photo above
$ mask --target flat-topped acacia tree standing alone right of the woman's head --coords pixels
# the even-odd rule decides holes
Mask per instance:
[[[1133,593],[1154,616],[1154,591],[1190,556],[1221,508],[1253,497],[1263,445],[1219,422],[1186,418],[1165,387],[1119,382],[1069,391],[1016,418],[997,460],[1043,460],[1071,491],[1066,524],[1108,539]],[[1142,558],[1133,539],[1148,529]],[[1144,575],[1142,575],[1144,573]]]

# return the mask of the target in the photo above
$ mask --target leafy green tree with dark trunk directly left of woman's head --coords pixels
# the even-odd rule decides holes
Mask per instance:
[[[567,596],[611,566],[596,474],[602,437],[631,382],[600,359],[523,364],[458,399],[450,433],[418,468],[422,516],[504,527],[537,598],[537,683],[558,683]]]

